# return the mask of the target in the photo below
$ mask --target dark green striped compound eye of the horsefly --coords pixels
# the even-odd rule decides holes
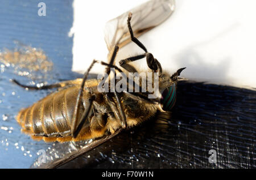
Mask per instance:
[[[171,110],[176,101],[176,84],[172,84],[170,87],[164,89],[160,103],[163,106],[163,110]]]

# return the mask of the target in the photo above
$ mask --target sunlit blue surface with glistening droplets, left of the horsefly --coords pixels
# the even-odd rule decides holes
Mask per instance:
[[[14,50],[14,41],[40,48],[53,62],[53,70],[47,72],[50,79],[38,78],[38,82],[75,79],[71,71],[73,38],[68,37],[73,24],[73,1],[44,0],[46,16],[38,15],[39,2],[42,1],[1,1],[0,50]],[[23,84],[31,82],[30,78],[16,75],[11,66],[0,72],[0,168],[29,168],[38,157],[36,152],[52,143],[34,142],[22,134],[15,115],[49,91],[25,91],[9,79],[18,79]]]

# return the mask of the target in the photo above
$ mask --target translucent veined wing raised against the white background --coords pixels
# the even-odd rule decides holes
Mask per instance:
[[[110,50],[113,45],[119,48],[130,42],[127,18],[129,12],[133,14],[131,27],[134,36],[141,36],[143,33],[164,22],[175,9],[175,0],[152,0],[137,6],[130,11],[109,20],[105,25],[105,41]]]

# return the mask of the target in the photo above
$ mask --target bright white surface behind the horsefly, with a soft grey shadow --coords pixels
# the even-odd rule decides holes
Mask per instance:
[[[94,58],[106,61],[105,23],[143,2],[75,0],[73,71],[85,71]],[[254,0],[176,0],[174,14],[139,39],[165,70],[187,67],[182,76],[190,80],[255,88],[255,7]],[[117,59],[140,52],[129,44]]]

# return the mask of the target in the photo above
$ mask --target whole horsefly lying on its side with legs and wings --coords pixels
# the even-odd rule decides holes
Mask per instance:
[[[67,142],[97,138],[87,148],[61,159],[51,168],[81,156],[124,128],[138,125],[157,112],[166,112],[174,106],[177,77],[184,68],[168,74],[137,38],[166,20],[174,11],[174,6],[174,0],[148,1],[110,20],[105,33],[108,63],[93,60],[83,78],[42,87],[22,85],[13,80],[28,89],[58,88],[58,91],[34,105],[20,110],[16,119],[22,131],[32,139]],[[115,65],[118,49],[130,41],[144,53],[120,60],[118,67]],[[130,62],[145,57],[149,71],[143,75]],[[95,63],[105,66],[105,75],[88,80],[89,71]],[[117,79],[115,75],[119,74],[122,78]]]

